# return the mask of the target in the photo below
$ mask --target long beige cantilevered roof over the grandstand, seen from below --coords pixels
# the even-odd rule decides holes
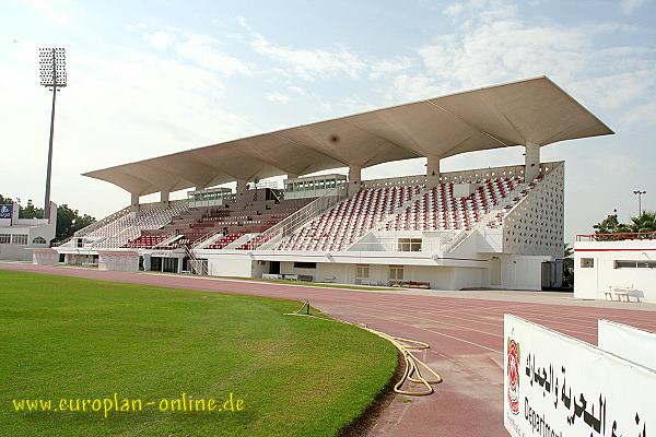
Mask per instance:
[[[192,149],[84,176],[140,196],[613,133],[548,78]]]

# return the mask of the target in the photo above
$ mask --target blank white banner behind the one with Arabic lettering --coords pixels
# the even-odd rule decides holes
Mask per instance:
[[[599,349],[656,370],[655,333],[614,321],[599,320],[597,334]]]

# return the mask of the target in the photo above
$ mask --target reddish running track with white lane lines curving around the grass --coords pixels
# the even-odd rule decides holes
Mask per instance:
[[[372,436],[507,436],[503,427],[503,315],[512,312],[557,331],[597,343],[605,318],[656,331],[656,312],[600,306],[303,287],[251,281],[104,272],[89,269],[2,263],[0,269],[52,273],[211,292],[309,300],[333,317],[426,342],[420,354],[444,378],[430,397],[397,397]],[[535,296],[535,295],[534,295]],[[554,304],[558,303],[558,304]],[[406,402],[402,402],[406,401]]]

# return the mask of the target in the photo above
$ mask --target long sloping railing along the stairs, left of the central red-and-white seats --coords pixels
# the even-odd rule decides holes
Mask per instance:
[[[335,206],[341,199],[343,199],[343,197],[339,196],[339,191],[333,188],[320,198],[313,200],[292,215],[289,215],[288,217],[278,222],[267,231],[253,237],[242,247],[245,250],[271,247],[282,238],[293,234],[294,231],[305,225],[311,220]]]

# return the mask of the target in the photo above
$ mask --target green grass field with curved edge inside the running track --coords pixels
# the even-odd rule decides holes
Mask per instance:
[[[0,435],[338,435],[391,378],[397,353],[354,327],[283,316],[298,307],[0,271]],[[232,392],[243,410],[160,411],[183,392],[219,405]],[[142,410],[93,411],[114,393]],[[23,399],[52,410],[90,402],[86,412],[16,412]]]

